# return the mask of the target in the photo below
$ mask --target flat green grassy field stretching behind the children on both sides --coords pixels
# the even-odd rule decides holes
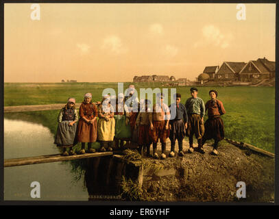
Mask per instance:
[[[124,89],[129,83],[124,83]],[[135,83],[136,88],[161,88],[160,83]],[[69,96],[81,103],[86,92],[94,101],[101,101],[104,88],[114,88],[117,83],[5,83],[4,105],[37,105],[66,103]],[[164,87],[165,88],[165,87]],[[226,138],[247,142],[274,153],[275,146],[275,88],[274,87],[197,87],[198,96],[208,101],[208,91],[216,89],[226,114],[222,116]],[[190,87],[178,87],[182,103],[190,97]],[[170,92],[169,92],[170,93]],[[170,98],[170,94],[169,94]],[[5,118],[17,118],[41,123],[54,134],[58,110],[42,112],[7,113]]]

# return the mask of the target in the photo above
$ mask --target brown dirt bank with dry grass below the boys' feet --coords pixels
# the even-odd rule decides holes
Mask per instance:
[[[167,144],[169,149],[169,142]],[[185,150],[188,149],[184,142]],[[143,158],[142,201],[274,201],[274,159],[222,141],[219,155],[195,152],[165,160]],[[177,149],[176,149],[177,150]],[[160,151],[159,151],[160,152]],[[169,153],[169,151],[168,151]],[[236,198],[236,183],[245,182],[246,198]]]

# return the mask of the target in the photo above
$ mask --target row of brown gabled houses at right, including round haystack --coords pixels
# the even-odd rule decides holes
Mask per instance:
[[[206,66],[197,81],[241,81],[271,79],[275,77],[275,62],[265,57],[249,62],[223,62],[219,66]]]

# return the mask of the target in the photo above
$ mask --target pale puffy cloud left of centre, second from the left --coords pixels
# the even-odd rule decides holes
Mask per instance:
[[[104,39],[103,49],[107,49],[114,55],[119,55],[128,52],[128,48],[123,47],[121,39],[118,36],[108,36]]]

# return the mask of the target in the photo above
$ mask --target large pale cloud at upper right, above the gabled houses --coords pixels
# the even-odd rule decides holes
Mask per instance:
[[[203,39],[195,42],[195,47],[201,47],[208,44],[213,44],[216,47],[226,49],[230,46],[230,42],[234,39],[231,33],[223,34],[215,25],[206,25],[202,28]]]

